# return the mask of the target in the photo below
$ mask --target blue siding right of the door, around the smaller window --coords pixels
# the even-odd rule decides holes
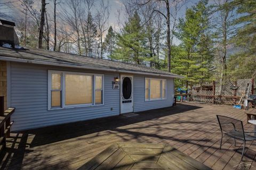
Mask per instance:
[[[145,78],[166,79],[166,99],[145,101]],[[133,112],[172,106],[174,98],[173,78],[150,77],[149,75],[134,75],[133,81]]]

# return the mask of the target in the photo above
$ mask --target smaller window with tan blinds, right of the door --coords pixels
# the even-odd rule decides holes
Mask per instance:
[[[145,78],[145,100],[166,99],[166,80]]]

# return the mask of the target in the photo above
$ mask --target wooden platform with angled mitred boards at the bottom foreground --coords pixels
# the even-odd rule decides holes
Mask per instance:
[[[115,142],[79,169],[211,169],[170,145]]]

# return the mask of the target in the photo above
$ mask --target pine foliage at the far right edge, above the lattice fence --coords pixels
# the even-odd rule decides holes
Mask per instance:
[[[237,3],[234,1],[233,3]],[[228,74],[231,79],[256,77],[256,1],[240,3],[239,18],[234,21],[238,29],[232,42],[239,52],[228,60]],[[241,27],[243,25],[243,27]]]

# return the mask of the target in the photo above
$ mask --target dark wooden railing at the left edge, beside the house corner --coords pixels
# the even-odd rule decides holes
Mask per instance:
[[[4,111],[4,96],[0,96],[0,153],[6,146],[6,138],[10,137],[11,115],[15,111],[15,108],[8,108]]]

